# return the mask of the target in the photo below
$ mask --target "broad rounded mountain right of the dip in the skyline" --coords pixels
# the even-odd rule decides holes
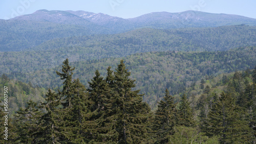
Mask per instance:
[[[129,20],[136,23],[137,27],[158,29],[219,27],[241,24],[256,26],[256,19],[254,18],[199,11],[185,11],[180,13],[153,12]]]

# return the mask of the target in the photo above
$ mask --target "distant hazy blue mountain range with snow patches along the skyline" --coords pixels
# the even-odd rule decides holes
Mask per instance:
[[[153,12],[124,19],[85,11],[38,10],[8,20],[0,19],[0,51],[24,51],[56,38],[117,34],[141,28],[169,30],[241,24],[256,26],[256,19],[199,11]]]

